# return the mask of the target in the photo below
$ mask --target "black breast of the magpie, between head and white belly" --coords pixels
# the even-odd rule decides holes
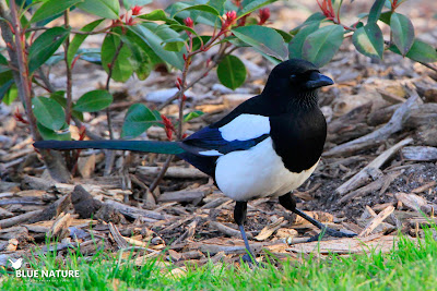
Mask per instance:
[[[270,118],[273,147],[292,172],[311,168],[320,158],[327,138],[327,122],[320,109]]]

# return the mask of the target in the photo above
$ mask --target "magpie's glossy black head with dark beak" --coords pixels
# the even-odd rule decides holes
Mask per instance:
[[[317,100],[317,89],[332,84],[334,82],[311,62],[290,59],[272,70],[264,94],[302,101],[308,98]]]

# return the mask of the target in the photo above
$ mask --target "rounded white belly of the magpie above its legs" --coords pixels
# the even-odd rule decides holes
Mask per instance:
[[[317,163],[299,173],[288,171],[269,137],[248,150],[220,157],[215,180],[220,190],[234,201],[281,196],[302,185]]]

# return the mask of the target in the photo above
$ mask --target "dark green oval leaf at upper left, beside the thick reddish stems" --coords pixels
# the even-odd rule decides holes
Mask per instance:
[[[52,27],[44,32],[28,50],[28,70],[34,72],[44,64],[69,36],[63,27]]]

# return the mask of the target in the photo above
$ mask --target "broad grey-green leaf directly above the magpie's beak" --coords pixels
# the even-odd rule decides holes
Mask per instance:
[[[344,29],[341,25],[328,25],[308,35],[303,45],[302,57],[316,64],[327,64],[343,43]]]

